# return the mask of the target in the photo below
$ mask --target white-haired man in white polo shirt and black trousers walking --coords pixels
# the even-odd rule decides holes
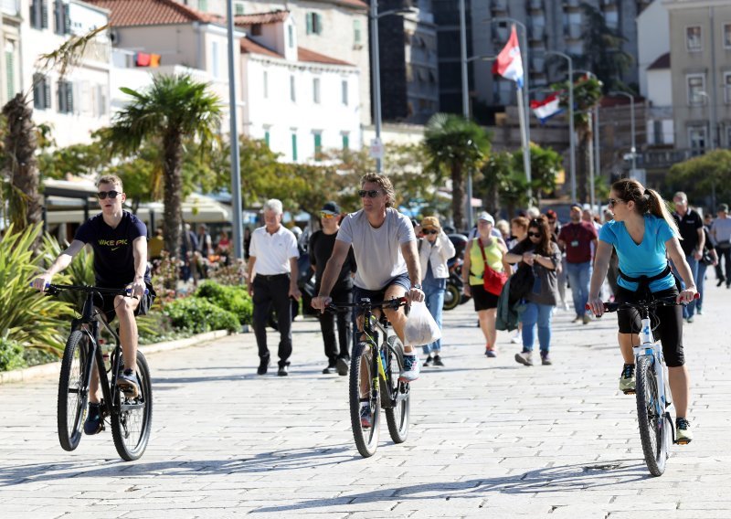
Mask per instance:
[[[257,375],[266,375],[270,365],[267,347],[267,323],[270,310],[277,314],[280,332],[278,376],[287,376],[291,355],[291,303],[300,301],[297,288],[297,240],[290,230],[281,225],[283,207],[276,198],[264,204],[264,227],[251,233],[249,248],[249,295],[254,302],[253,328],[259,347]]]

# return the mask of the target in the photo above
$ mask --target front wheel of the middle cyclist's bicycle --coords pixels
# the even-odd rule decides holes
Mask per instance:
[[[350,361],[350,424],[355,447],[364,458],[373,456],[378,448],[378,430],[381,425],[381,403],[378,387],[373,385],[373,355],[371,343],[358,343]],[[364,409],[367,406],[367,409]]]

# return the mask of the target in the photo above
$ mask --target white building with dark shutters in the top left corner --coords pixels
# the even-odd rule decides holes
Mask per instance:
[[[111,42],[107,34],[91,40],[79,61],[64,78],[44,71],[37,62],[56,50],[70,36],[87,34],[108,23],[108,11],[79,0],[23,0],[20,3],[20,57],[12,59],[4,93],[12,88],[29,93],[34,121],[48,124],[58,146],[86,143],[91,132],[109,125]],[[12,40],[11,40],[12,41]],[[5,68],[11,69],[9,53],[17,42],[5,43]],[[16,68],[16,63],[19,68]],[[12,79],[12,78],[18,79]],[[15,83],[15,84],[11,84]],[[69,131],[69,129],[73,129]]]

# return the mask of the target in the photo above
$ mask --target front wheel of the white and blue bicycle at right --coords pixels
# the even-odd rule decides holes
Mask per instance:
[[[655,367],[651,359],[641,356],[637,359],[637,420],[645,463],[653,476],[662,476],[668,459],[667,427],[664,412],[658,416],[656,403],[659,392]]]

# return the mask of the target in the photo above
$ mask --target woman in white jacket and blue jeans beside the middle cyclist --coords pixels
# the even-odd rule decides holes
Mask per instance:
[[[418,238],[418,260],[421,263],[421,288],[429,313],[441,330],[441,313],[444,307],[444,292],[450,268],[447,261],[456,250],[450,238],[441,228],[438,217],[425,217],[420,225],[423,238]],[[441,360],[441,339],[422,347],[427,359],[424,366],[444,365]]]

